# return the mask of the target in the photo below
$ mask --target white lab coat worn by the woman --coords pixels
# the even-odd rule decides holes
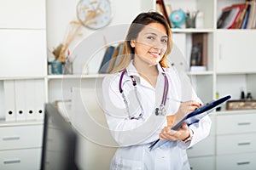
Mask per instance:
[[[190,169],[186,149],[205,139],[210,132],[211,120],[208,116],[201,119],[189,128],[193,130],[193,139],[184,144],[182,141],[170,141],[157,149],[149,151],[148,147],[159,139],[160,131],[166,126],[166,116],[156,116],[154,109],[159,107],[165,79],[161,74],[163,70],[157,65],[160,72],[156,87],[153,88],[137,73],[134,65],[127,67],[122,81],[122,88],[128,100],[131,115],[141,112],[139,102],[134,97],[135,89],[131,77],[137,80],[137,94],[143,105],[143,119],[130,120],[125,109],[124,99],[119,93],[120,73],[109,75],[102,82],[103,108],[107,118],[108,127],[113,139],[119,144],[119,149],[113,156],[110,169]],[[166,101],[166,114],[173,115],[180,105],[179,101],[195,99],[201,101],[195,94],[189,78],[179,74],[172,67],[164,69],[168,77],[169,91]]]

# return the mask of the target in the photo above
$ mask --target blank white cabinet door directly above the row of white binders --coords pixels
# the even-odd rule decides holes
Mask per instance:
[[[0,49],[0,77],[46,75],[46,31],[0,30]]]

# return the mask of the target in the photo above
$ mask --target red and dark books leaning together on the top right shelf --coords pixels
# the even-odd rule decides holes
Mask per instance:
[[[217,28],[253,29],[256,28],[256,0],[236,3],[222,9]]]

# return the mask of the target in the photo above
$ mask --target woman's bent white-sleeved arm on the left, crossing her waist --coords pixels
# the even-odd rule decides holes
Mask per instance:
[[[166,118],[150,113],[148,116],[144,114],[143,119],[129,119],[118,85],[119,77],[116,75],[105,77],[102,82],[103,108],[113,139],[121,146],[148,144],[158,139]]]

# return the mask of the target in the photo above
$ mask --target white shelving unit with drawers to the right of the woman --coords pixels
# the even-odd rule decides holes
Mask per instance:
[[[253,29],[218,29],[218,18],[222,9],[233,4],[245,3],[241,0],[166,0],[166,4],[172,6],[172,10],[183,8],[203,12],[204,26],[202,28],[172,29],[174,35],[183,34],[186,44],[185,56],[189,59],[191,53],[192,35],[198,32],[207,33],[207,71],[189,71],[186,68],[192,82],[195,82],[197,94],[207,101],[214,99],[215,94],[219,96],[231,94],[233,99],[240,99],[241,90],[252,93],[255,99],[256,71],[255,71],[255,50],[253,41],[256,38],[256,31]],[[211,4],[211,5],[210,5]],[[174,36],[175,37],[175,36]],[[174,38],[175,42],[175,38]],[[244,127],[238,126],[240,122],[247,122],[256,111],[221,111],[214,112],[212,118],[212,132],[210,136],[195,147],[188,150],[191,169],[254,169],[253,162],[256,160],[253,144],[241,146],[239,139],[254,141],[255,132],[253,124],[246,126],[247,135],[242,135]],[[235,117],[239,117],[235,120]],[[251,118],[250,118],[251,117]],[[227,123],[230,131],[226,129]],[[237,138],[237,139],[236,139]],[[234,140],[232,140],[234,139]],[[233,148],[224,148],[227,145]],[[239,145],[238,147],[236,145]],[[236,152],[234,152],[236,150]],[[247,159],[247,162],[242,161]]]

